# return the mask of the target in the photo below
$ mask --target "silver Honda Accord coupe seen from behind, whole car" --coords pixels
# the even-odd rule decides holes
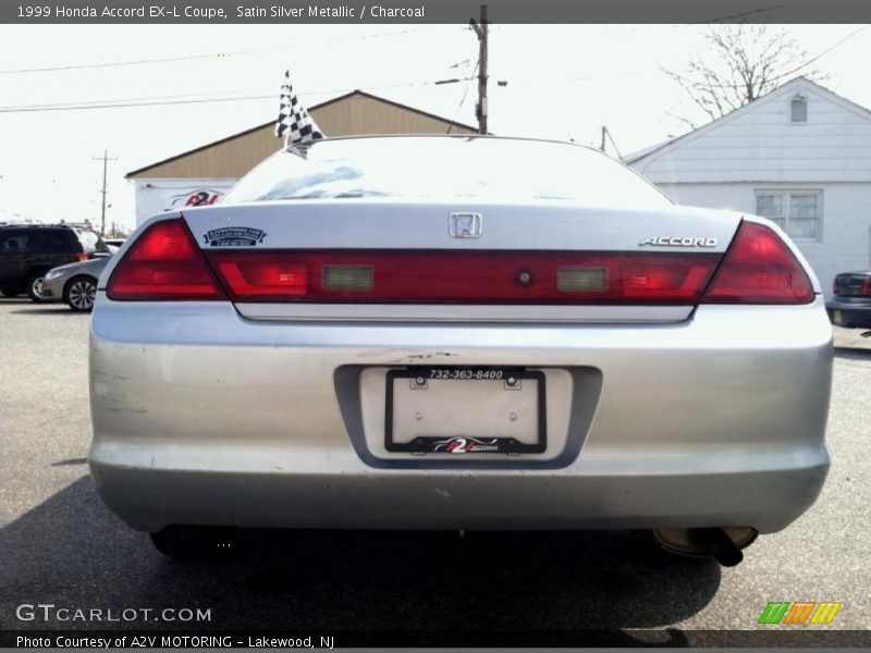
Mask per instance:
[[[112,257],[90,469],[171,555],[236,527],[614,528],[735,564],[820,492],[832,355],[762,218],[568,144],[326,139]]]

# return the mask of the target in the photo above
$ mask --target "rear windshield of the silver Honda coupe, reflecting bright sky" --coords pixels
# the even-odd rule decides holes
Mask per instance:
[[[511,138],[384,137],[319,140],[280,151],[244,176],[225,202],[323,198],[671,204],[596,150]]]

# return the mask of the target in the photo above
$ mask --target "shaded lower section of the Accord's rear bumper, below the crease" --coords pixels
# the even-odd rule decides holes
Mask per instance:
[[[91,461],[100,494],[131,526],[371,529],[785,528],[815,501],[810,467],[732,473],[511,473],[347,470],[192,472]],[[586,471],[586,472],[585,472]]]

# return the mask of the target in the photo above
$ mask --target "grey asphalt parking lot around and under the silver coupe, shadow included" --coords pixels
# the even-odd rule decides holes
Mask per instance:
[[[200,626],[213,629],[688,631],[764,628],[769,601],[842,601],[827,628],[871,624],[871,341],[857,331],[836,334],[820,500],[737,567],[598,531],[262,532],[241,556],[182,564],[109,513],[88,476],[88,322],[62,305],[0,299],[0,628],[119,627],[16,617],[37,603],[209,608]]]

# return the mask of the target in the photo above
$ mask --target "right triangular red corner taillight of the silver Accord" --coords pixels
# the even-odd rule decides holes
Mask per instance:
[[[743,222],[702,304],[810,304],[813,287],[798,259],[768,226]]]

